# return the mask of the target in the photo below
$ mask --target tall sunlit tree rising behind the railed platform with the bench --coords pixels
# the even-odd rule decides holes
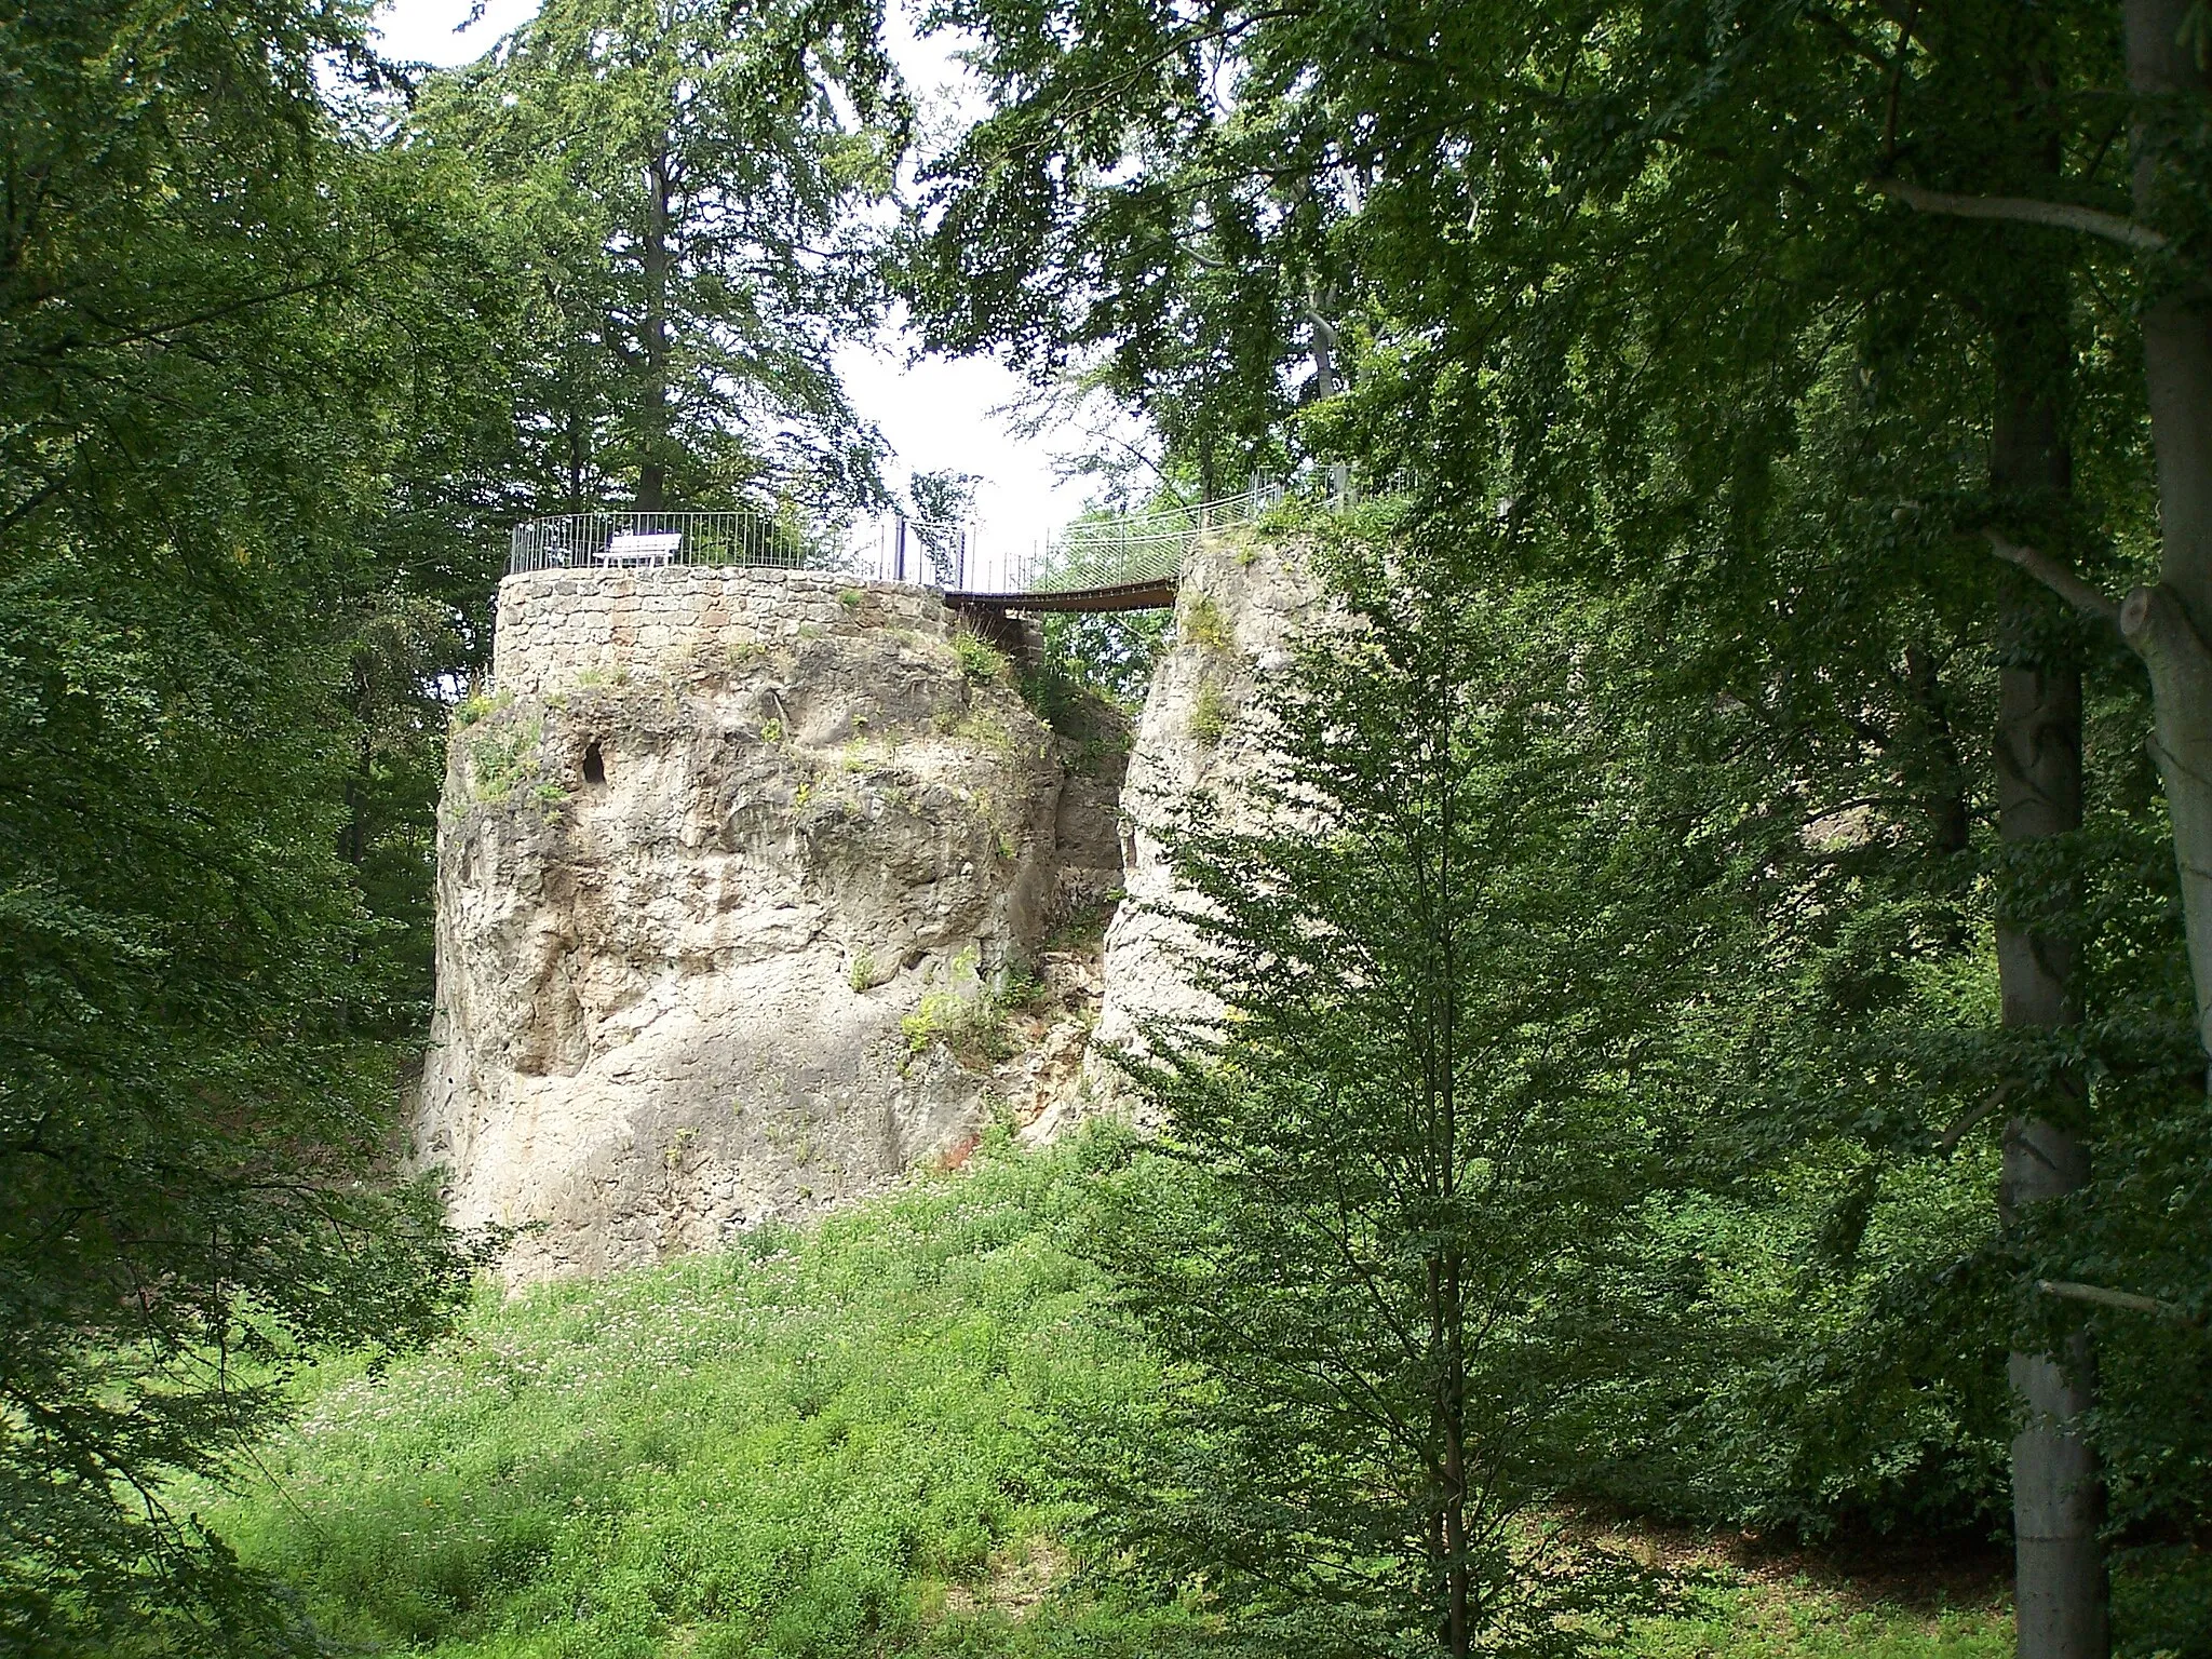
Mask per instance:
[[[511,204],[522,420],[566,511],[876,500],[830,352],[878,305],[902,102],[878,7],[555,0],[418,144]]]

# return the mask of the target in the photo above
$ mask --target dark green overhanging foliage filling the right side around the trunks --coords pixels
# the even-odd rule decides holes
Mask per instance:
[[[1728,920],[1663,927],[1712,967],[1674,1031],[1694,1060],[1637,1082],[1681,1144],[1606,1281],[1652,1338],[1621,1352],[1606,1480],[1770,1524],[1982,1524],[2002,1354],[2088,1329],[2115,1502],[2201,1526],[2212,1352],[2033,1290],[2212,1298],[2143,677],[1989,557],[2000,533],[2112,593],[2148,580],[2137,307],[2166,276],[1869,190],[2117,212],[2121,11],[938,15],[993,93],[927,175],[938,338],[1102,365],[1175,476],[1267,449],[1411,469],[1411,542],[1630,617],[1582,688],[1650,730],[1626,757],[1648,821]],[[2148,210],[2194,237],[2201,95],[2170,113],[2132,144],[2174,175]],[[1993,465],[2037,405],[2064,489]],[[1991,748],[2026,664],[2088,686],[2088,818],[2033,852],[1995,834]],[[2000,920],[2079,953],[2079,1029],[2004,1024]],[[1995,1139],[2031,1106],[2086,1133],[2090,1186],[2000,1225]]]

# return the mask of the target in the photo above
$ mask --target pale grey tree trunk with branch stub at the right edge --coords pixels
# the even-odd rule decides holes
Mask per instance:
[[[2159,106],[2201,93],[2208,75],[2181,22],[2192,0],[2126,0],[2128,86],[2135,122],[2135,217],[2157,223],[2168,177],[2185,159],[2161,155]],[[2201,276],[2201,272],[2190,272]],[[2159,584],[2119,611],[2121,633],[2150,668],[2154,752],[2174,821],[2181,911],[2197,982],[2197,1037],[2212,1055],[2212,314],[2152,270],[2168,292],[2143,312],[2143,378],[2159,462]]]

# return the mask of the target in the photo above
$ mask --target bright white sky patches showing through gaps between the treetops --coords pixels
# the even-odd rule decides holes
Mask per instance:
[[[465,64],[480,58],[509,29],[526,22],[538,0],[487,0],[482,22],[458,31],[469,0],[389,0],[378,13],[385,53],[405,62]],[[938,42],[916,42],[900,7],[891,7],[894,51],[900,69],[922,97],[958,100],[962,69]],[[1055,480],[1053,453],[1075,453],[1084,438],[1055,429],[1042,438],[1015,438],[1006,420],[993,416],[1029,392],[1029,383],[991,358],[922,358],[907,365],[911,334],[889,330],[876,341],[856,341],[836,356],[854,407],[889,440],[889,476],[905,484],[911,471],[958,469],[978,473],[978,518],[987,540],[1009,551],[1029,546],[1071,520],[1088,487]]]

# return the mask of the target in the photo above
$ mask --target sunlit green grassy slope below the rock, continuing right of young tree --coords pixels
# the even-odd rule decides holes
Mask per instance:
[[[1048,1425],[1141,1416],[1150,1363],[1060,1239],[1071,1152],[743,1250],[487,1294],[427,1354],[332,1363],[208,1520],[345,1644],[438,1659],[1223,1650],[1199,1604],[1095,1586]],[[1637,1659],[2008,1652],[2002,1562],[1869,1562],[1637,1524]]]

